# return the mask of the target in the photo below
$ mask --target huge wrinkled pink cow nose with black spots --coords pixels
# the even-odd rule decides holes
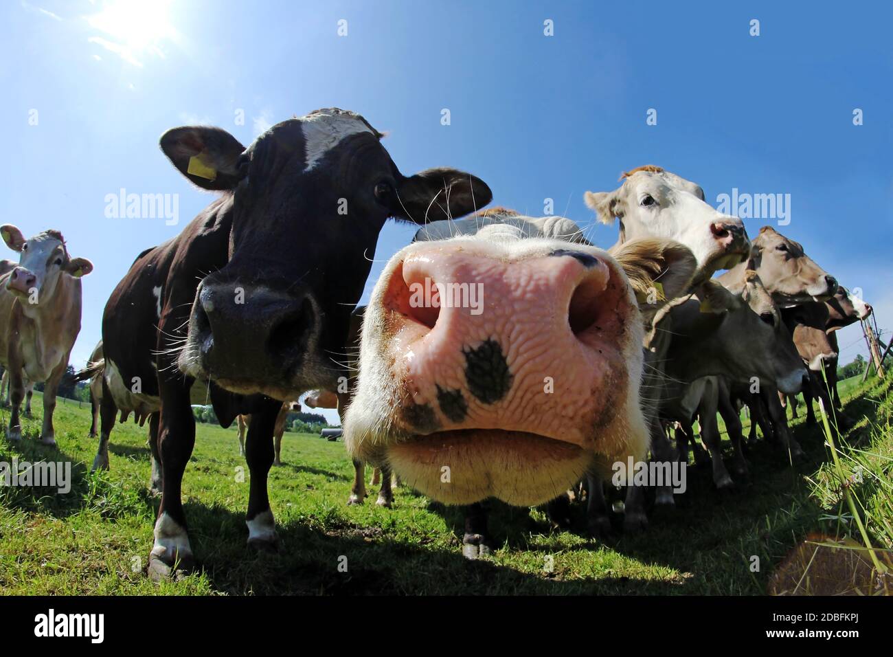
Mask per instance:
[[[382,302],[406,421],[421,434],[504,429],[581,444],[616,410],[605,400],[624,380],[619,336],[635,312],[627,282],[572,248],[503,255],[441,244],[391,275]]]

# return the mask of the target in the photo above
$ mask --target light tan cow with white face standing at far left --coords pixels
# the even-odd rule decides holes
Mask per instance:
[[[38,232],[26,240],[12,224],[0,226],[19,264],[0,277],[0,363],[9,374],[12,412],[8,438],[21,440],[19,411],[27,378],[45,383],[40,441],[55,445],[56,390],[80,333],[80,278],[93,271],[84,257],[71,257],[61,232]]]

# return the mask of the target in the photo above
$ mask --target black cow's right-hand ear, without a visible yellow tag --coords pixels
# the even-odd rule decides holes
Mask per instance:
[[[404,178],[397,190],[394,216],[419,225],[456,219],[493,200],[487,183],[471,173],[442,167]]]

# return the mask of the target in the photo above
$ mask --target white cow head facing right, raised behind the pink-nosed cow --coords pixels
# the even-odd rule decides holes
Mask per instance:
[[[620,222],[620,241],[641,237],[676,240],[697,257],[694,283],[747,257],[750,242],[736,216],[705,203],[704,190],[675,173],[649,164],[623,173],[617,190],[586,192],[586,204],[603,223]]]

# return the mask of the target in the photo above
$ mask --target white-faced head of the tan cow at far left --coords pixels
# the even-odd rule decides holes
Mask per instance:
[[[20,300],[26,314],[53,299],[61,276],[79,278],[93,271],[87,258],[69,257],[59,231],[38,232],[26,240],[18,228],[6,223],[0,226],[0,235],[6,246],[19,252],[19,266],[6,279],[6,290]]]

